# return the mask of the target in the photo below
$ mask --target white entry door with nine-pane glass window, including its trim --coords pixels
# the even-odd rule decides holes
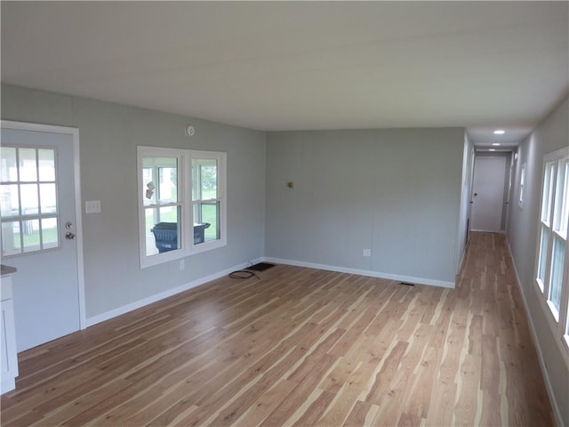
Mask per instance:
[[[2,255],[3,263],[18,269],[13,277],[18,351],[83,324],[76,149],[76,129],[2,123]]]

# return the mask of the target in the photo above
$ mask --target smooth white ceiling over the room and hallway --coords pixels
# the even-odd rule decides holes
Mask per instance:
[[[509,147],[567,94],[568,4],[2,1],[2,81],[265,131],[466,126]]]

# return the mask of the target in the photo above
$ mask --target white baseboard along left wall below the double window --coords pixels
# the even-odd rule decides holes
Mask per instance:
[[[259,258],[257,260],[253,260],[252,263],[254,264],[254,263],[257,263],[260,261],[261,261],[261,258]],[[98,324],[100,322],[104,322],[105,320],[108,320],[110,318],[116,318],[116,316],[120,316],[121,314],[128,313],[129,311],[132,311],[132,310],[140,309],[141,307],[144,307],[145,305],[151,304],[153,302],[158,302],[160,300],[164,300],[164,298],[168,298],[169,296],[172,296],[175,294],[180,294],[180,292],[187,291],[188,289],[191,289],[192,287],[204,285],[204,283],[211,282],[212,280],[215,280],[216,278],[222,278],[223,276],[227,276],[231,271],[241,270],[241,269],[244,269],[250,265],[251,265],[250,262],[243,262],[243,263],[236,265],[234,267],[231,267],[229,269],[222,270],[222,271],[219,271],[217,273],[213,273],[209,276],[205,276],[204,278],[197,278],[196,280],[193,280],[193,281],[191,281],[185,285],[172,287],[172,289],[168,289],[168,290],[161,292],[159,294],[150,295],[146,298],[143,298],[142,300],[139,300],[136,302],[131,302],[130,304],[126,304],[122,307],[118,307],[118,308],[113,309],[113,310],[105,311],[104,313],[100,313],[96,316],[93,316],[92,318],[87,318],[86,327],[96,325],[96,324]]]

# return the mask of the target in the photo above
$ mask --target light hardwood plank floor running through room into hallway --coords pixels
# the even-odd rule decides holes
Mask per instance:
[[[456,289],[276,266],[20,353],[2,425],[553,425],[505,239]]]

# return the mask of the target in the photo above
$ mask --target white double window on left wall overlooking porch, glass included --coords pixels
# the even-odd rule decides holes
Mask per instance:
[[[138,148],[140,266],[226,245],[226,154]]]

